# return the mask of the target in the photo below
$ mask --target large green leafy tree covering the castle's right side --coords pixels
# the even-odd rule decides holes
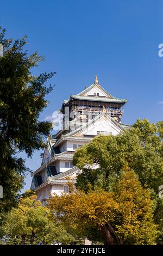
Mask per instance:
[[[130,168],[139,175],[143,187],[151,191],[155,200],[155,223],[159,225],[160,240],[162,233],[162,199],[158,197],[159,186],[163,184],[163,141],[160,124],[150,124],[147,119],[140,120],[129,130],[117,136],[98,136],[90,144],[79,148],[73,157],[73,165],[82,169],[78,175],[77,187],[87,192],[101,187],[113,191],[123,168]],[[98,169],[88,169],[93,163]]]

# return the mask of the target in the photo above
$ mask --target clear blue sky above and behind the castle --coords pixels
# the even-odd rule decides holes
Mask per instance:
[[[163,119],[163,2],[153,0],[3,1],[1,26],[6,37],[28,35],[29,53],[46,57],[33,74],[56,71],[55,84],[40,120],[60,108],[62,100],[99,83],[116,97],[128,99],[123,123],[137,118]],[[41,151],[42,152],[42,151]],[[26,165],[41,164],[36,151]],[[25,154],[22,154],[26,158]],[[24,190],[30,187],[30,175]]]

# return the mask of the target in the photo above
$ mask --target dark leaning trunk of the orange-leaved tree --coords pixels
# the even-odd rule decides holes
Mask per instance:
[[[110,222],[98,227],[105,239],[105,245],[121,245]]]

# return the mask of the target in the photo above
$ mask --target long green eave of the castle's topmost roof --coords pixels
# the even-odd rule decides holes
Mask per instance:
[[[78,95],[71,95],[73,99],[77,100],[91,100],[91,101],[103,101],[103,102],[127,102],[126,99],[118,99],[118,98],[109,98],[109,97],[100,97],[100,96],[78,96]]]

